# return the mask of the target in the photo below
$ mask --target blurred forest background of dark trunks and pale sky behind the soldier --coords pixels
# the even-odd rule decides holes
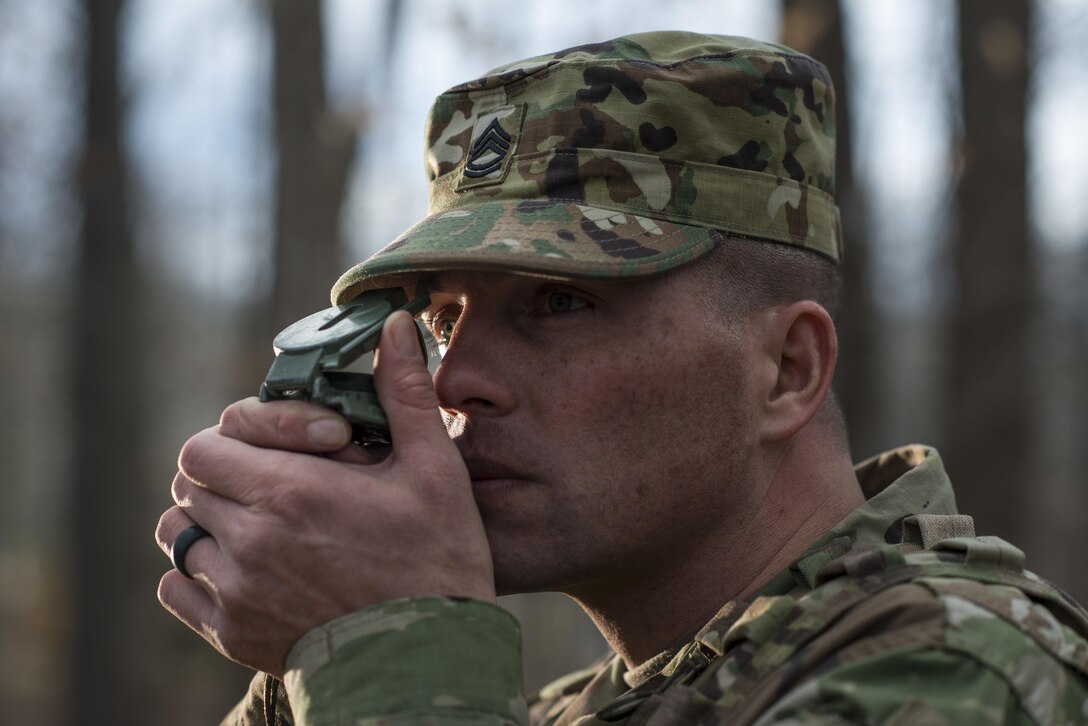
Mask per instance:
[[[177,448],[424,213],[436,94],[662,28],[832,70],[855,458],[939,446],[1088,600],[1086,0],[0,0],[0,719],[218,723],[249,674],[154,594]],[[506,605],[530,688],[602,652]]]

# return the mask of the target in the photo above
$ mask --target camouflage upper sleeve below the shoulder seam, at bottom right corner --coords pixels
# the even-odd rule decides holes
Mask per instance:
[[[1084,723],[1086,641],[1007,585],[920,577],[861,601],[794,656],[756,723]],[[836,722],[839,719],[839,722]]]

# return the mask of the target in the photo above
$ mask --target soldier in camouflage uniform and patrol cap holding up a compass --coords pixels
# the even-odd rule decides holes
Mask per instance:
[[[159,594],[262,672],[225,723],[1088,719],[1084,610],[935,451],[851,465],[833,106],[688,33],[437,99],[430,214],[332,291],[430,295],[433,381],[407,313],[378,350],[392,451],[256,399],[182,451]],[[527,700],[494,599],[541,590],[615,652]]]

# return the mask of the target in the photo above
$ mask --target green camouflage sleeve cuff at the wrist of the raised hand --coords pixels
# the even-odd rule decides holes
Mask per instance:
[[[294,723],[528,723],[518,623],[477,600],[382,603],[310,631],[287,656]]]

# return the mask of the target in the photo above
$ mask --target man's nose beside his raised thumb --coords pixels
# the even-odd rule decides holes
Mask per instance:
[[[517,394],[510,341],[497,320],[462,311],[434,373],[438,405],[470,419],[512,411]]]

